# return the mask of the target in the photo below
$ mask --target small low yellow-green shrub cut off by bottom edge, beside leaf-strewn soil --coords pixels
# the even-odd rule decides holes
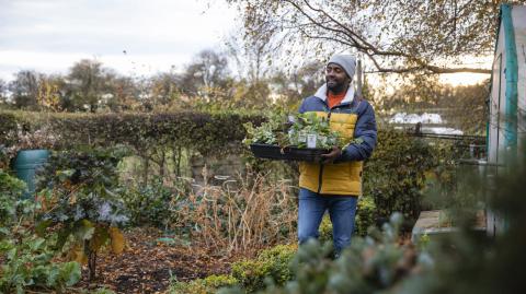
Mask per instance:
[[[173,282],[169,293],[173,294],[213,294],[220,287],[235,286],[238,280],[231,275],[209,275],[205,279],[197,279],[191,282]]]

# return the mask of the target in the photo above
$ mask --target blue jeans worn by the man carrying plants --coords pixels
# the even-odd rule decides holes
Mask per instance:
[[[301,188],[299,190],[298,240],[299,244],[309,238],[318,238],[321,220],[325,210],[332,222],[332,236],[336,255],[351,244],[354,231],[357,197],[321,196]]]

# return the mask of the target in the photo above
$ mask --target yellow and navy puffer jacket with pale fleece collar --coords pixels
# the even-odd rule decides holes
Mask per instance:
[[[340,132],[344,142],[353,141],[332,164],[301,162],[299,187],[324,196],[362,196],[363,161],[370,156],[377,140],[370,104],[350,89],[343,101],[329,109],[327,85],[323,85],[313,96],[304,99],[298,111],[315,111],[327,117],[331,129]]]

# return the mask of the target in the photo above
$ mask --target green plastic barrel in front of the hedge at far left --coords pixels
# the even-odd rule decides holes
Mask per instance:
[[[16,177],[27,184],[27,193],[24,197],[30,198],[35,193],[35,172],[44,165],[49,157],[49,151],[44,149],[21,150],[14,160],[14,172]]]

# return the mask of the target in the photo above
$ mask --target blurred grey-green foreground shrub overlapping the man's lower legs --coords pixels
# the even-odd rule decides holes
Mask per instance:
[[[272,284],[261,293],[378,293],[397,285],[418,263],[411,245],[398,242],[401,215],[395,214],[384,231],[371,231],[367,238],[356,237],[338,259],[332,258],[332,246],[316,239],[299,247],[290,269],[295,280],[285,285]],[[250,264],[254,267],[254,264]],[[293,275],[291,275],[293,277]],[[247,293],[255,289],[244,287]],[[221,293],[242,293],[231,290]]]

